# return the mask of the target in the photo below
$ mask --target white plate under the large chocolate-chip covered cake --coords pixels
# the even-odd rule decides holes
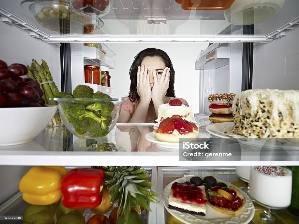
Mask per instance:
[[[244,145],[254,146],[261,149],[284,149],[287,151],[298,151],[299,142],[296,138],[247,138],[242,135],[234,134],[234,132],[231,129],[233,124],[234,122],[223,122],[216,124],[213,123],[206,127],[206,131],[220,138],[231,138],[230,136],[226,135],[229,134],[234,136],[234,138],[240,139],[240,141]],[[226,134],[224,133],[224,131],[226,131]],[[290,140],[292,140],[292,142]]]

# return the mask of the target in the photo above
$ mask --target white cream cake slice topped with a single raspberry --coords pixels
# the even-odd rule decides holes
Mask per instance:
[[[192,108],[184,105],[180,99],[172,99],[169,103],[159,106],[156,122],[159,124],[164,119],[173,115],[178,115],[184,120],[191,121],[193,118]]]

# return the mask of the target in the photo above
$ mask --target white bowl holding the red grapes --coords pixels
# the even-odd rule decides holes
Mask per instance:
[[[45,129],[56,111],[56,105],[0,108],[0,145],[30,142]]]

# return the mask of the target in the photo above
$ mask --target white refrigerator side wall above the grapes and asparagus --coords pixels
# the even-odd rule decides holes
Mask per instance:
[[[42,63],[41,59],[44,59],[49,66],[57,87],[61,90],[59,46],[56,47],[55,44],[46,43],[31,37],[24,30],[3,22],[0,22],[0,30],[1,60],[5,61],[7,65],[21,63],[30,66],[32,59],[35,59],[39,64]]]

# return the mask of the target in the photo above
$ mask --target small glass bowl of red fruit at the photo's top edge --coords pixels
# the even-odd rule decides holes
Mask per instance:
[[[70,0],[71,8],[89,18],[105,16],[110,10],[109,0]]]

